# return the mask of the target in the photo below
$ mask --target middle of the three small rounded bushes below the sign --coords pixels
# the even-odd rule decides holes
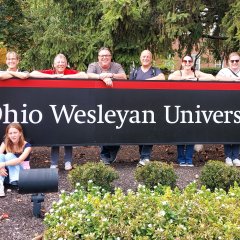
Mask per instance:
[[[137,168],[135,178],[150,189],[158,184],[174,188],[177,181],[173,166],[157,161],[149,162],[145,166]]]

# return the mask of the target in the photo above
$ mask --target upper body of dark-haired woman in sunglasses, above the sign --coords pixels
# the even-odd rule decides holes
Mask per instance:
[[[180,70],[170,74],[168,80],[212,81],[216,78],[212,74],[195,70],[192,57],[186,55],[182,58]]]

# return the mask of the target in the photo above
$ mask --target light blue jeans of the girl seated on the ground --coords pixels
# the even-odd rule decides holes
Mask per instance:
[[[0,162],[7,162],[9,160],[12,160],[14,158],[17,158],[13,153],[7,153],[7,154],[0,154]],[[9,183],[18,181],[19,180],[19,172],[23,169],[21,164],[15,165],[15,166],[7,166],[8,169],[8,176],[9,176]],[[0,176],[0,181],[4,181],[3,176]]]

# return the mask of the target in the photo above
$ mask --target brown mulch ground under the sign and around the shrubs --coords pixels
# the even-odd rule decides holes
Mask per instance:
[[[96,146],[74,147],[74,164],[83,164],[88,161],[99,161],[99,148]],[[208,160],[224,160],[223,147],[221,145],[205,145],[204,151],[195,153],[194,167],[179,167],[176,164],[176,147],[172,145],[155,145],[152,160],[173,163],[178,175],[177,185],[184,188],[190,182],[196,180],[201,168]],[[138,183],[134,179],[134,170],[139,161],[138,146],[122,146],[117,161],[112,165],[120,178],[115,181],[116,187],[124,191],[135,190]],[[50,166],[50,148],[34,147],[31,157],[32,168],[48,168]],[[60,151],[59,162],[59,192],[71,191],[71,185],[67,179],[67,172],[63,170],[63,149]],[[58,200],[58,193],[45,194],[42,203],[42,213],[49,211],[53,201]],[[43,218],[33,216],[33,203],[31,194],[21,195],[16,190],[7,190],[6,197],[0,198],[0,236],[4,240],[29,240],[37,238],[44,231]]]

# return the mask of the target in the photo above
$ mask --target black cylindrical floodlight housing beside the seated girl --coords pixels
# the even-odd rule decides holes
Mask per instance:
[[[57,192],[58,169],[36,168],[21,170],[18,187],[21,194]]]

